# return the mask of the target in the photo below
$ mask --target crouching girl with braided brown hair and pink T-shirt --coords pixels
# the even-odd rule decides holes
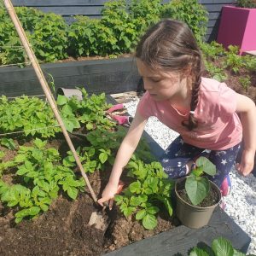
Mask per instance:
[[[244,176],[253,170],[256,149],[254,102],[224,83],[201,77],[201,51],[183,22],[161,20],[150,28],[137,45],[136,57],[147,92],[138,104],[98,202],[102,205],[109,201],[109,207],[113,206],[119,177],[137,148],[150,116],[157,117],[180,134],[160,159],[169,177],[185,176],[195,165],[196,158],[207,149],[207,157],[217,168],[212,181],[225,195],[242,133],[244,150],[237,169]]]

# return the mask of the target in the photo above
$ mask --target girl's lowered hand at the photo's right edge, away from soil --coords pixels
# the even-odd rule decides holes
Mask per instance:
[[[243,176],[249,175],[250,172],[253,171],[254,166],[254,157],[255,151],[254,150],[243,150],[241,154],[241,163],[236,164],[236,169],[238,172],[241,173]]]

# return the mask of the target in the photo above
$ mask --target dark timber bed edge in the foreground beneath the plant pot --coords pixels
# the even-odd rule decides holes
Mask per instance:
[[[199,230],[189,229],[181,225],[143,241],[122,247],[112,253],[107,253],[105,256],[189,255],[189,250],[197,246],[198,243],[204,243],[210,247],[212,240],[219,236],[230,240],[236,249],[247,253],[251,241],[250,237],[218,207],[213,212],[210,223]]]

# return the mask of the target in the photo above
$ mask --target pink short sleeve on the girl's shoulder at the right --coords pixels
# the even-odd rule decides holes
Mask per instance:
[[[236,112],[236,91],[225,83],[219,84],[219,110],[221,114],[232,114]]]

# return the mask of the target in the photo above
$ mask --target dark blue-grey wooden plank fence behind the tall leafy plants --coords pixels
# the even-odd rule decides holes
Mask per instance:
[[[53,12],[62,15],[67,23],[73,21],[73,15],[86,15],[92,19],[100,19],[104,3],[108,0],[13,0],[15,6],[27,6],[40,9],[44,12]],[[167,3],[163,0],[162,3]],[[207,41],[217,38],[218,23],[221,9],[226,4],[234,3],[234,0],[199,0],[209,12],[209,22],[207,29]]]

